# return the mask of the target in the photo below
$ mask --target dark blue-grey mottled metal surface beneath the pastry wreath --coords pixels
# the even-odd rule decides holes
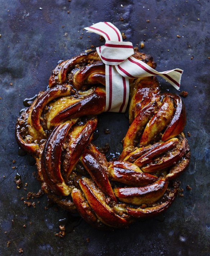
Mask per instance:
[[[0,0],[1,255],[19,255],[19,248],[31,256],[210,255],[209,9],[207,0]],[[181,90],[188,92],[184,131],[191,134],[187,137],[191,162],[181,176],[184,197],[159,218],[115,231],[95,230],[84,221],[76,227],[68,222],[67,234],[60,239],[54,234],[66,213],[55,206],[46,209],[46,195],[26,200],[40,184],[32,175],[36,168],[29,165],[29,157],[18,156],[14,126],[23,100],[45,90],[58,60],[102,44],[98,35],[82,30],[99,21],[113,22],[134,46],[144,40],[142,51],[154,57],[158,71],[184,70]],[[165,81],[162,84],[176,92]],[[104,127],[110,134],[104,134]],[[124,114],[101,115],[96,144],[109,142],[111,153],[120,152],[127,128]],[[17,172],[23,185],[28,183],[27,190],[17,189]],[[35,202],[36,208],[25,205],[22,197]]]

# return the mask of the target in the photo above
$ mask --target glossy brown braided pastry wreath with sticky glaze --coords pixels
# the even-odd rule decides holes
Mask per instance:
[[[144,53],[133,57],[156,67]],[[108,162],[91,143],[106,103],[105,65],[96,51],[59,62],[49,90],[16,124],[17,142],[35,157],[47,196],[96,227],[124,227],[165,211],[190,161],[181,97],[161,94],[155,77],[129,82],[130,126],[118,160]]]

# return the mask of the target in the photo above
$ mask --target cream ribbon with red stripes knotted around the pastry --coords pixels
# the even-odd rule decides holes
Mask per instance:
[[[85,27],[87,32],[103,36],[105,45],[97,47],[102,62],[105,65],[106,76],[106,108],[109,112],[125,112],[129,99],[129,79],[160,75],[177,90],[180,87],[183,70],[173,69],[158,72],[141,60],[132,57],[133,45],[123,42],[117,27],[110,22],[98,22]]]

